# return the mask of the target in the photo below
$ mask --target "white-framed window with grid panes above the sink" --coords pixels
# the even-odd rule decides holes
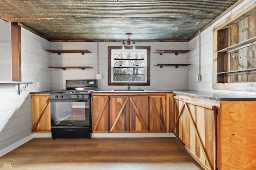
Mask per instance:
[[[131,85],[148,85],[148,49],[111,49],[110,61],[111,83],[130,80]]]

